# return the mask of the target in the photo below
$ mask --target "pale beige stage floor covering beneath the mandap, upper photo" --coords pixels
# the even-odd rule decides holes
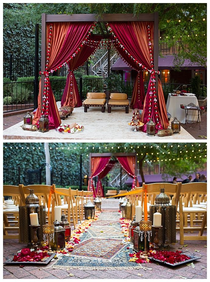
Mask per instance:
[[[60,102],[57,102],[58,108]],[[172,136],[159,137],[158,135],[148,135],[142,131],[133,132],[128,122],[131,121],[133,109],[129,109],[129,114],[125,113],[125,109],[113,108],[108,114],[107,108],[105,113],[101,112],[101,108],[89,108],[87,113],[84,113],[84,107],[74,108],[70,117],[62,121],[65,124],[73,122],[84,126],[84,131],[75,134],[61,134],[55,130],[49,132],[32,132],[25,131],[20,126],[23,122],[19,122],[3,131],[4,139],[95,139],[95,140],[176,140],[176,139],[194,139],[184,128],[181,128],[179,133]],[[170,128],[170,127],[169,127]]]

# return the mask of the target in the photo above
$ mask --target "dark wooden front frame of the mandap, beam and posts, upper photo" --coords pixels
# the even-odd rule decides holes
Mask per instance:
[[[48,15],[42,14],[42,31],[41,31],[41,72],[45,71],[46,63],[46,42],[47,42],[47,23],[48,22],[94,22],[101,24],[104,22],[131,22],[131,21],[152,21],[154,22],[154,70],[158,71],[158,52],[159,52],[159,14],[72,14],[72,15]],[[44,93],[44,74],[41,74],[41,93]],[[158,75],[156,74],[156,95],[158,96]],[[43,103],[43,98],[42,98]]]

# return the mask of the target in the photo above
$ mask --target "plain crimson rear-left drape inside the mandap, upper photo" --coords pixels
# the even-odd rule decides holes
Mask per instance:
[[[79,52],[77,56],[73,57],[72,60],[68,62],[69,73],[66,80],[66,86],[64,89],[64,93],[61,99],[61,106],[71,106],[71,107],[81,107],[82,101],[79,96],[79,89],[76,83],[75,75],[73,70],[80,67],[85,61],[89,58],[89,56],[96,50],[97,46],[102,39],[102,36],[89,36],[89,40],[97,41],[94,46],[89,46],[84,44],[82,47],[82,52]]]

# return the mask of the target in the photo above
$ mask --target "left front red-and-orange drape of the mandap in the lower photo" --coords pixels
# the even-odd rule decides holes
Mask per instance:
[[[93,177],[99,175],[108,165],[109,161],[110,157],[91,157],[91,175],[89,176],[88,191],[93,191],[93,197],[96,197]]]

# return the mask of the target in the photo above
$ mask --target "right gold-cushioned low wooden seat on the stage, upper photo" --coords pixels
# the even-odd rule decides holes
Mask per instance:
[[[129,113],[128,96],[125,93],[111,93],[107,103],[108,113],[111,113],[111,107],[125,107],[125,113]]]

